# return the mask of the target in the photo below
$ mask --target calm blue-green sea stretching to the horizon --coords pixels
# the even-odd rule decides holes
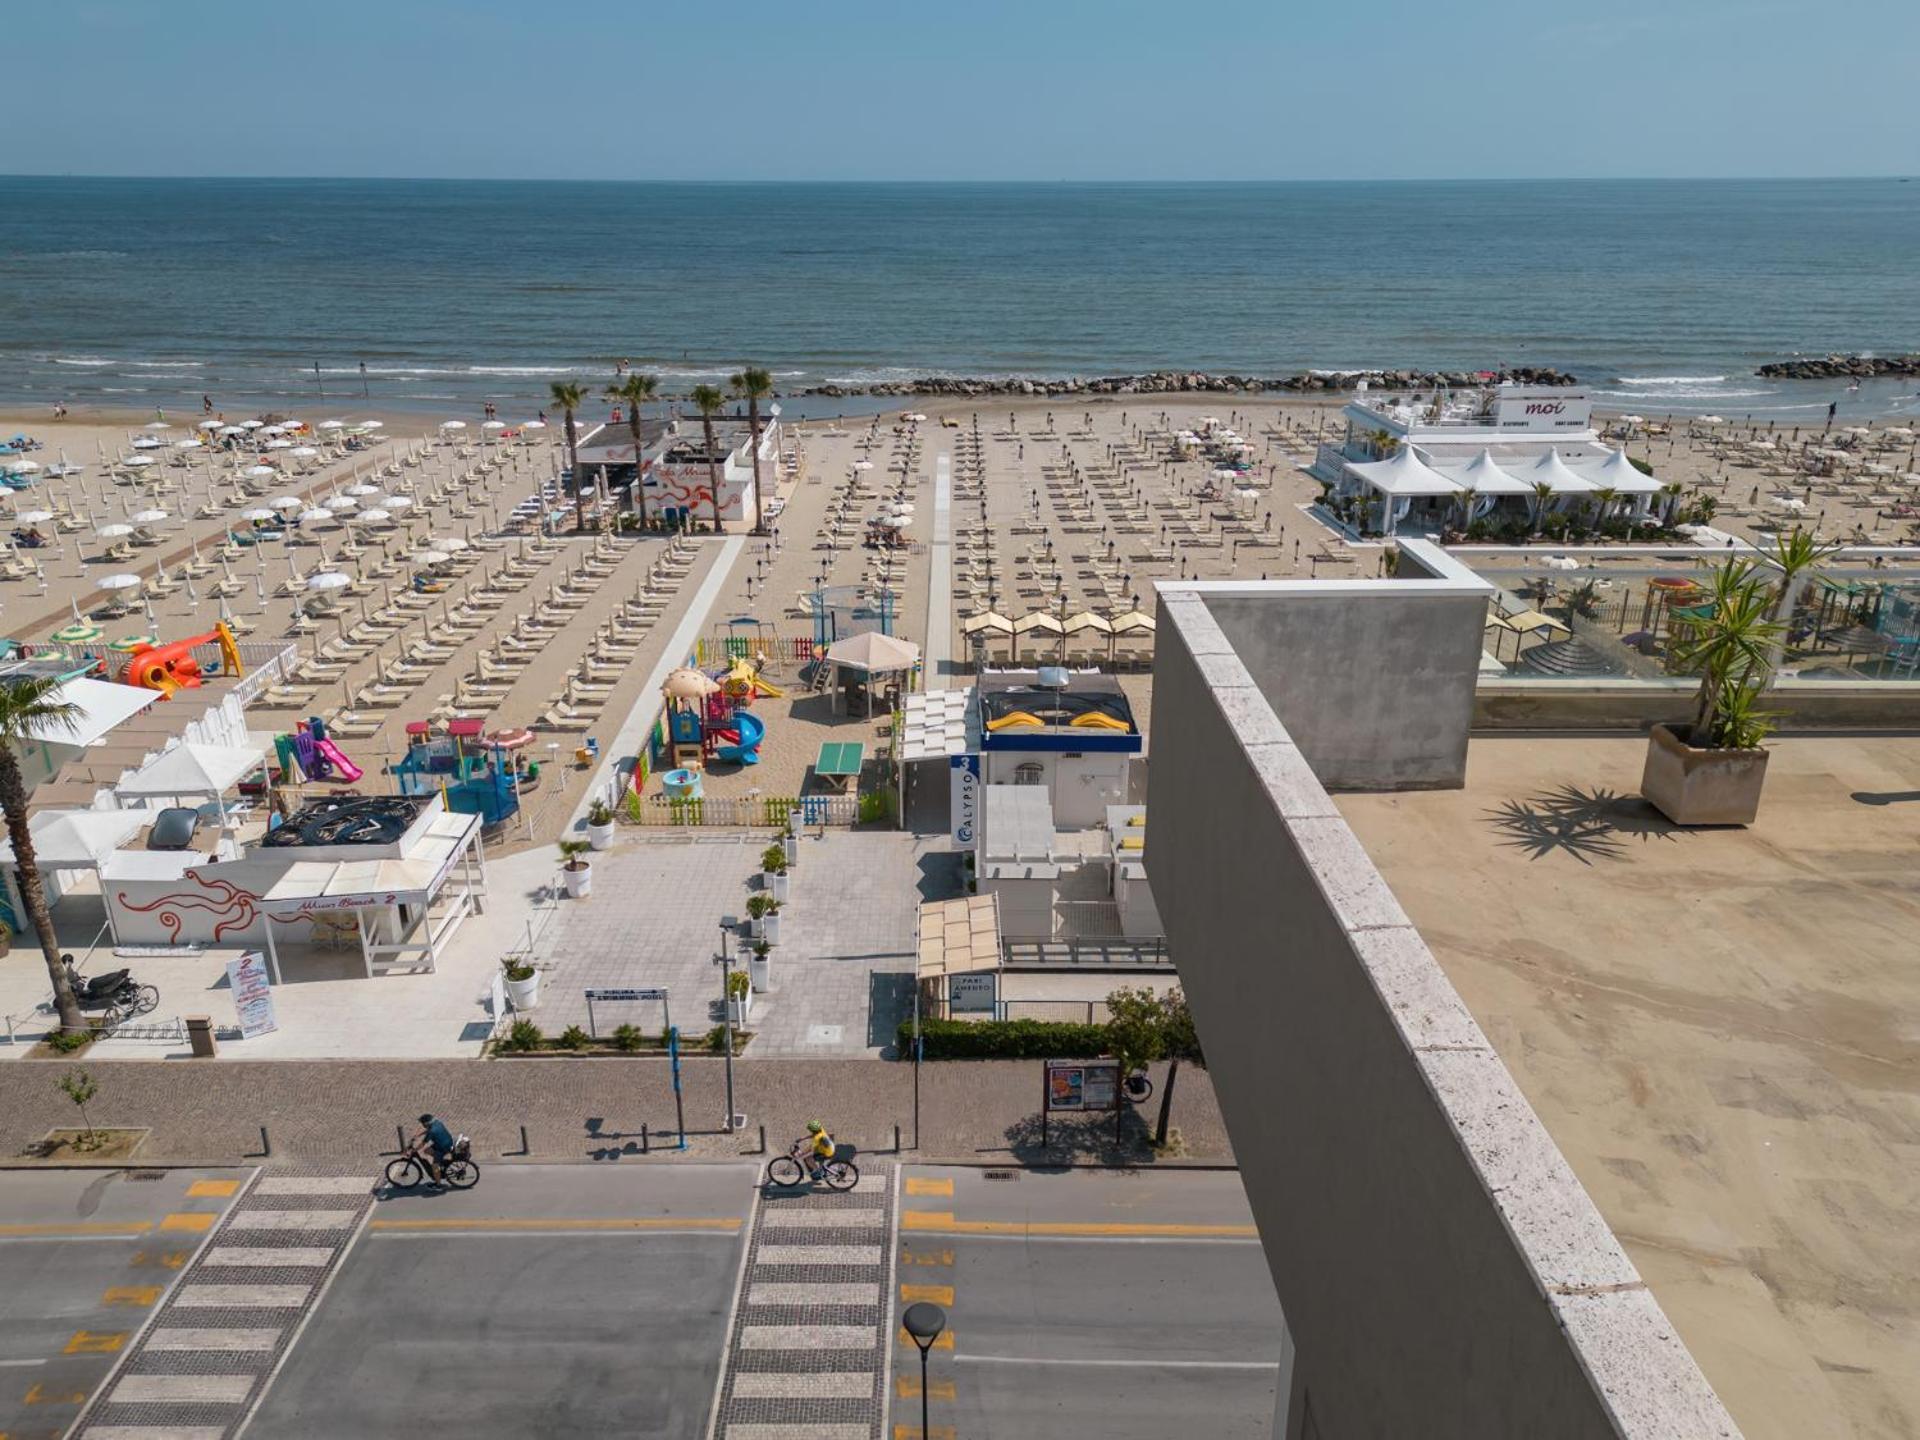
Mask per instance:
[[[0,179],[0,397],[513,411],[612,361],[908,374],[1557,365],[1619,409],[1916,407],[1920,184]],[[319,374],[315,374],[319,365]]]

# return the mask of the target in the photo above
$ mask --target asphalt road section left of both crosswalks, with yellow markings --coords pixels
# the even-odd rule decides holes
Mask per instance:
[[[65,1434],[244,1181],[0,1171],[0,1436]]]

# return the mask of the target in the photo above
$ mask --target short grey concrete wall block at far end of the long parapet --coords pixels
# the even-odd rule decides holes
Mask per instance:
[[[1494,588],[1438,547],[1405,541],[1394,580],[1194,582],[1160,593],[1206,601],[1323,783],[1465,783]],[[1154,730],[1162,747],[1185,743],[1160,716]]]

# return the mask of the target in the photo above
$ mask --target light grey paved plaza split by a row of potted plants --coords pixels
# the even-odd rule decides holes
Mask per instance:
[[[586,991],[666,987],[674,1023],[720,1020],[720,920],[745,920],[764,833],[622,831],[593,858],[593,893],[564,900],[540,941],[534,1020],[588,1023]],[[755,996],[753,1056],[876,1056],[912,1012],[914,912],[956,893],[954,856],[899,831],[801,837],[780,910],[772,991]],[[743,960],[741,937],[730,941]],[[595,1023],[660,1027],[655,1004],[595,1004]]]

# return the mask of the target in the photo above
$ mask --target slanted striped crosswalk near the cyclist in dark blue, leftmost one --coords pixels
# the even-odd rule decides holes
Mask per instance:
[[[228,1440],[372,1210],[371,1175],[259,1175],[73,1440]]]

